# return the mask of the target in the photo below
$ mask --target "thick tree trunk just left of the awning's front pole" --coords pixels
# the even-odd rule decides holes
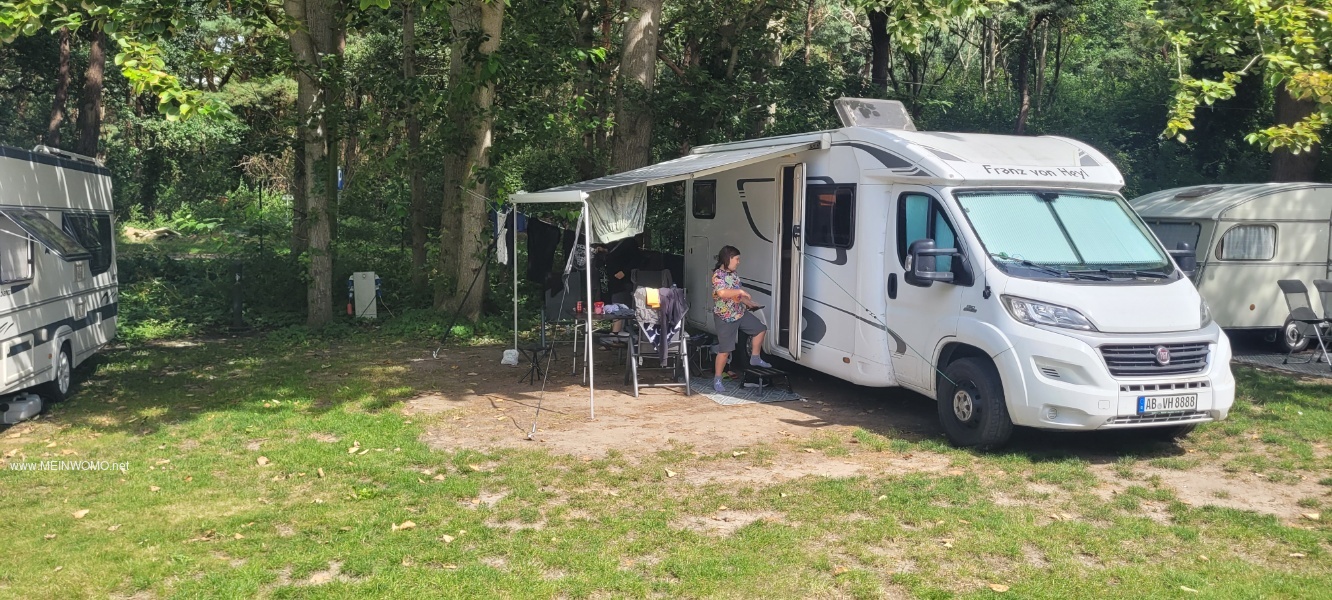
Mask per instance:
[[[445,173],[445,245],[457,245],[453,256],[457,268],[453,271],[456,293],[452,299],[462,316],[476,320],[481,316],[481,300],[485,285],[473,287],[473,281],[485,280],[489,257],[490,228],[486,227],[486,171],[490,167],[492,128],[494,116],[494,79],[488,68],[492,56],[500,49],[500,35],[503,27],[502,0],[465,0],[449,7],[453,21],[454,43],[450,79],[454,84],[465,83],[464,89],[472,89],[466,99],[456,99],[450,107],[454,113],[450,123],[458,123],[462,141],[461,149],[449,160]],[[458,89],[450,85],[450,89]],[[450,204],[457,209],[450,211]],[[457,220],[450,223],[449,213]],[[454,224],[456,223],[456,224]],[[453,229],[449,225],[453,224]],[[452,231],[452,233],[450,233]],[[453,237],[452,240],[449,237]],[[446,265],[445,265],[446,267]],[[442,271],[442,269],[441,269]],[[446,271],[442,271],[446,272]],[[470,289],[469,289],[470,288]],[[470,293],[469,293],[470,292]],[[436,307],[446,308],[436,295]]]

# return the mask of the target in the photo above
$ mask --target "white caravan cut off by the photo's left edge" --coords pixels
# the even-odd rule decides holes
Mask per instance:
[[[69,392],[75,367],[116,335],[111,173],[99,161],[0,147],[0,417]]]

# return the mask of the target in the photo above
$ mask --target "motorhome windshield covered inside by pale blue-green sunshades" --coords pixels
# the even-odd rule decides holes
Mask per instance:
[[[1115,196],[960,192],[958,203],[1004,271],[1096,279],[1167,277],[1173,261]]]

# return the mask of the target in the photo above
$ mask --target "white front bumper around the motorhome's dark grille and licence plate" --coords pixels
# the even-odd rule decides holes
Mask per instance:
[[[1046,429],[1123,429],[1219,421],[1235,403],[1229,340],[1215,324],[1183,333],[1066,335],[1024,328],[1000,372],[1008,412],[1019,425]],[[1107,344],[1207,343],[1200,372],[1115,377],[1098,349]],[[1020,385],[1011,385],[1020,377]],[[1140,396],[1197,395],[1197,408],[1173,413],[1138,413]]]

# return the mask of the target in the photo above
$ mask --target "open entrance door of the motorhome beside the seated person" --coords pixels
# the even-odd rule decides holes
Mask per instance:
[[[777,280],[773,285],[777,332],[774,349],[791,360],[801,360],[801,309],[805,305],[805,164],[782,167],[778,188],[782,211],[777,224],[781,233],[777,253]]]

